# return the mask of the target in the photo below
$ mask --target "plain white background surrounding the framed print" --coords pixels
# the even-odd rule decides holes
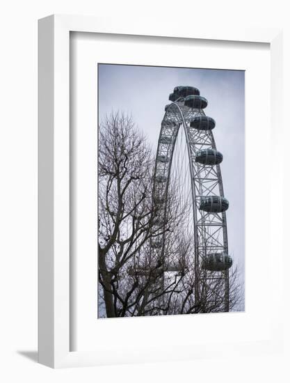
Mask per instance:
[[[37,19],[51,13],[96,16],[113,13],[116,17],[126,17],[128,22],[130,17],[143,15],[150,23],[154,13],[160,21],[163,17],[172,19],[172,26],[177,24],[176,20],[218,22],[229,24],[229,28],[234,24],[284,26],[284,45],[289,49],[287,1],[277,0],[274,4],[273,1],[184,0],[179,4],[156,0],[143,3],[11,0],[1,6],[0,379],[3,382],[177,382],[193,378],[203,382],[289,382],[287,357],[232,359],[227,363],[227,372],[225,361],[219,359],[51,370],[27,357],[35,358],[37,347]],[[284,54],[285,68],[290,68],[289,60],[288,50]],[[290,81],[286,70],[284,82],[287,114]],[[289,132],[285,134],[289,140]],[[284,142],[287,150],[286,138]],[[290,204],[285,202],[285,209],[289,210]],[[287,276],[287,258],[284,270]],[[289,292],[286,283],[285,288]],[[287,306],[287,293],[284,299]],[[271,308],[273,305],[269,304]],[[287,340],[289,344],[289,336]]]

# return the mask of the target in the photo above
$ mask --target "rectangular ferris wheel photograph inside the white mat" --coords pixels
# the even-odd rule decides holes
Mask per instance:
[[[245,71],[96,70],[97,318],[245,311]]]

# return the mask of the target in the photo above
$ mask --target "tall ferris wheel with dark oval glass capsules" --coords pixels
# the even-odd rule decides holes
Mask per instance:
[[[207,100],[198,88],[177,86],[170,94],[161,123],[154,170],[153,203],[157,210],[155,226],[170,214],[173,190],[180,227],[176,249],[188,244],[193,264],[194,299],[199,302],[201,272],[206,281],[224,283],[224,311],[229,311],[229,268],[225,198],[220,163],[223,154],[216,148],[214,118],[206,116]],[[152,251],[163,255],[168,272],[178,271],[179,260],[166,256],[167,233],[152,241]],[[176,253],[175,251],[175,257]],[[178,258],[178,256],[177,256]],[[203,279],[204,281],[204,279]]]

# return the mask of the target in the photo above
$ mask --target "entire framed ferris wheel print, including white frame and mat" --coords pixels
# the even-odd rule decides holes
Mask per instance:
[[[40,362],[277,352],[280,31],[110,25],[39,24]]]

